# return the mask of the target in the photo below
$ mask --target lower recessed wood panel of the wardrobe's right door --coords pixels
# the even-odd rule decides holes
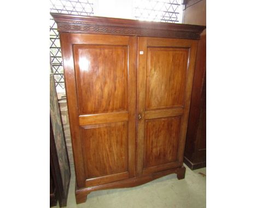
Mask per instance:
[[[180,128],[181,117],[145,121],[144,169],[177,161]]]

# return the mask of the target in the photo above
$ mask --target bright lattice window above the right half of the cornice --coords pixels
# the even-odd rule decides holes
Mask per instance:
[[[181,0],[135,0],[136,20],[156,22],[181,22]]]

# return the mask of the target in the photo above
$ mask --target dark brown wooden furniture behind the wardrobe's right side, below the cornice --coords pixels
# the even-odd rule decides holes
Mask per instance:
[[[197,47],[184,163],[192,170],[206,167],[206,35]]]

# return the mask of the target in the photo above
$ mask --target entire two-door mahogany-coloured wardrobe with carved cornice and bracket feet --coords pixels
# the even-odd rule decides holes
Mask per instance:
[[[77,203],[176,173],[205,27],[52,14],[61,38]]]

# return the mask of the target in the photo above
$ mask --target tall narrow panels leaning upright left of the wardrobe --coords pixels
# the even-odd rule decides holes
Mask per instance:
[[[71,171],[53,74],[50,74],[50,206],[67,205]]]

